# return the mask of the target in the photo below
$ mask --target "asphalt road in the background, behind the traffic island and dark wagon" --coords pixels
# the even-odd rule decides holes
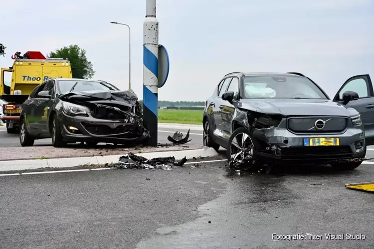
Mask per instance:
[[[202,131],[200,129],[193,129],[193,125],[191,127],[191,130],[189,131],[190,132],[190,135],[189,135],[189,139],[192,139],[192,141],[190,141],[190,144],[200,144],[202,145]],[[173,136],[174,132],[176,131],[180,131],[182,133],[186,133],[188,128],[186,127],[176,127],[176,128],[170,128],[170,127],[165,127],[165,126],[162,126],[159,127],[159,132],[158,132],[158,140],[159,142],[161,143],[167,143],[169,142],[168,141],[168,136],[171,135]],[[52,140],[51,138],[47,138],[47,139],[39,139],[39,140],[36,140],[35,145],[52,145]],[[6,130],[4,130],[1,126],[0,126],[0,147],[19,147],[21,146],[19,144],[19,137],[18,137],[18,134],[8,134],[6,132]]]

